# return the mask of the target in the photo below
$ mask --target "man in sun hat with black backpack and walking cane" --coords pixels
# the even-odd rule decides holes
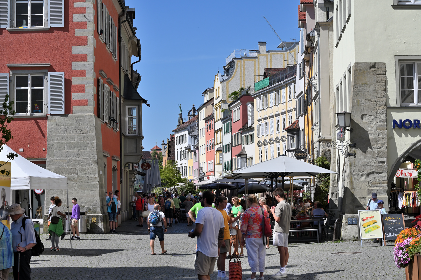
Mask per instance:
[[[20,279],[31,280],[31,248],[37,243],[35,239],[34,223],[31,219],[25,220],[25,229],[22,226],[25,209],[19,204],[13,204],[9,208],[9,215],[13,221],[10,225],[12,232],[12,247],[15,264],[13,265],[13,277],[18,279],[18,267]]]

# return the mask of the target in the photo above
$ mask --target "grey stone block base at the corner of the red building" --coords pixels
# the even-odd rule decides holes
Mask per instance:
[[[47,134],[47,169],[67,176],[69,202],[77,197],[80,210],[87,212],[89,231],[107,231],[107,209],[101,207],[106,188],[105,174],[99,173],[104,166],[100,120],[93,114],[48,115]],[[51,196],[59,196],[62,212],[67,211],[65,190],[45,190],[45,197]],[[91,223],[93,217],[96,223]]]

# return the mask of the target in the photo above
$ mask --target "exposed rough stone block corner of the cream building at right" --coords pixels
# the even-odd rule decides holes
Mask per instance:
[[[355,157],[346,158],[344,210],[357,214],[365,209],[372,192],[387,201],[386,64],[355,63],[352,77],[351,143]]]

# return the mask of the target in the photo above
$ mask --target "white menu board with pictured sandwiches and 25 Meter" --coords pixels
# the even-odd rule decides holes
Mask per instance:
[[[380,210],[358,210],[361,239],[383,238]]]

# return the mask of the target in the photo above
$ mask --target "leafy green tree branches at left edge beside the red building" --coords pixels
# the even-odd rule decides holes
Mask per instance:
[[[0,110],[0,152],[3,151],[4,144],[6,144],[10,139],[13,138],[10,129],[7,127],[7,125],[13,120],[13,117],[11,116],[15,115],[15,111],[13,110],[13,104],[14,101],[9,101],[9,95],[6,94],[3,102],[3,109]],[[18,154],[13,154],[12,152],[10,152],[8,155],[6,155],[6,157],[9,159],[7,162],[15,159],[15,157],[17,156]],[[0,164],[0,168],[3,165],[4,163]],[[10,174],[10,172],[5,170],[4,168],[0,170],[0,173],[6,173],[7,176],[9,176]]]

